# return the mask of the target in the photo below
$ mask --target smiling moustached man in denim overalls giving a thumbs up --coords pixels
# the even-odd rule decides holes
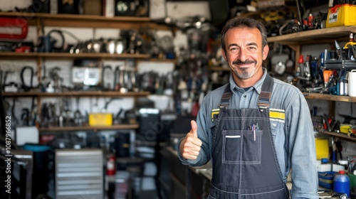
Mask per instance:
[[[266,29],[252,18],[232,18],[221,31],[229,84],[204,97],[192,129],[179,143],[183,164],[211,160],[209,198],[318,198],[313,124],[296,87],[262,68]]]

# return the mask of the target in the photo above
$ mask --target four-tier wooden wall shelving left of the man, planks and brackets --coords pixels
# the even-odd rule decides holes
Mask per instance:
[[[38,14],[23,12],[0,12],[1,17],[25,18],[28,26],[36,26],[37,36],[42,36],[43,27],[75,27],[75,28],[117,28],[120,30],[155,29],[172,31],[172,28],[161,26],[150,21],[148,17],[131,16],[90,16],[76,14]],[[15,53],[0,52],[0,60],[36,60],[37,71],[42,71],[44,60],[74,60],[76,58],[88,58],[97,60],[125,60],[135,59],[152,61],[147,54],[110,54],[110,53]],[[176,60],[167,60],[175,62]],[[38,72],[38,82],[41,83],[41,72]],[[3,92],[3,97],[36,97],[37,107],[41,107],[41,99],[44,97],[145,97],[150,92],[114,92],[114,91],[73,91],[73,92]],[[41,109],[38,108],[38,114]],[[110,127],[48,127],[39,128],[43,131],[98,131],[110,129],[138,129],[138,124],[120,124]]]

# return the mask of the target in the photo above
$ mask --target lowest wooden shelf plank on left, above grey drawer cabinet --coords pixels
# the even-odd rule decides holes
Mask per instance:
[[[90,126],[83,126],[83,127],[48,127],[48,128],[40,128],[38,131],[99,131],[99,130],[117,130],[117,129],[138,129],[138,124],[118,124],[112,126],[105,126],[105,127],[90,127]]]

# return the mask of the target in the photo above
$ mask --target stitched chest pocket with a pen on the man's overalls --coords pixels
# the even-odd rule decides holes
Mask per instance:
[[[222,163],[261,163],[262,130],[223,130]]]

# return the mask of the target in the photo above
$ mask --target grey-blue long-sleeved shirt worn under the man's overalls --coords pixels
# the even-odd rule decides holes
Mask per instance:
[[[266,69],[263,77],[253,87],[245,91],[238,87],[230,75],[232,97],[228,109],[258,108],[258,96],[261,92]],[[297,87],[281,80],[273,79],[270,110],[280,112],[270,119],[271,132],[276,147],[278,163],[282,174],[287,179],[291,171],[293,199],[318,198],[318,173],[316,170],[315,140],[310,111],[305,97]],[[201,139],[201,151],[195,160],[186,160],[178,156],[182,163],[189,166],[202,166],[211,159],[211,110],[218,109],[224,88],[219,87],[204,97],[197,116],[197,133]],[[270,114],[271,115],[271,114]],[[187,124],[189,125],[189,124]]]

